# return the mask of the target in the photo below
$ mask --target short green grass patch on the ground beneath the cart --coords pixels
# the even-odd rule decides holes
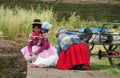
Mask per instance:
[[[107,58],[102,58],[101,60],[98,57],[91,56],[91,70],[103,71],[107,73],[120,74],[119,67],[113,67],[109,64]]]

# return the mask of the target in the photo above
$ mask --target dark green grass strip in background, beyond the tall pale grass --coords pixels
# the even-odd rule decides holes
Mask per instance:
[[[61,20],[63,17],[66,19],[70,17],[71,13],[75,12],[81,19],[91,20],[91,18],[97,21],[114,21],[120,22],[120,5],[112,4],[71,4],[61,2],[41,2],[40,0],[1,0],[0,5],[14,8],[15,5],[31,9],[31,6],[36,9],[38,5],[46,9],[48,7],[53,8],[53,11],[57,13],[57,17]]]

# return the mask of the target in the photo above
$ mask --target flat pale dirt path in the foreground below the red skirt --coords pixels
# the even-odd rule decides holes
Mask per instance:
[[[58,70],[55,68],[28,68],[27,78],[119,78],[102,71]]]

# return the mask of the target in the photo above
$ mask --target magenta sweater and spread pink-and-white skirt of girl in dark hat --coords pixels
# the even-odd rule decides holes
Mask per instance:
[[[30,34],[30,39],[28,45],[21,49],[26,60],[35,59],[32,64],[37,66],[55,66],[58,57],[57,50],[50,45],[48,39],[34,33]],[[38,55],[33,54],[33,56],[30,56],[30,52],[34,53],[36,51],[38,51]]]

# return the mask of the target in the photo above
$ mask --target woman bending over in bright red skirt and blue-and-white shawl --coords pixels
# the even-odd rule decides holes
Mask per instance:
[[[56,68],[89,70],[88,47],[80,38],[65,29],[59,29],[58,37],[58,62]]]

